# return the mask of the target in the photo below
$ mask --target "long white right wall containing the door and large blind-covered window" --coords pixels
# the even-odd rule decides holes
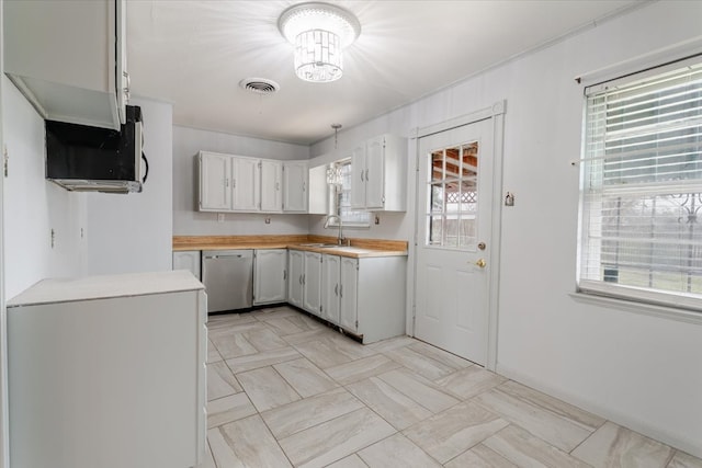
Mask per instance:
[[[340,147],[407,136],[507,100],[502,193],[517,198],[501,218],[498,372],[697,456],[702,326],[574,300],[578,169],[569,161],[580,155],[582,87],[574,77],[698,36],[700,18],[702,2],[650,3],[339,134]],[[369,236],[411,239],[409,218],[385,216]]]

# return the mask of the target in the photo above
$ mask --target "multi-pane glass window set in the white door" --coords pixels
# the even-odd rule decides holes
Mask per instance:
[[[427,246],[466,250],[476,242],[478,142],[428,155]]]

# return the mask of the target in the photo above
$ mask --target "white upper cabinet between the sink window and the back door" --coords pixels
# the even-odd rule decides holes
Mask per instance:
[[[404,212],[407,209],[407,140],[382,135],[351,151],[351,207]]]

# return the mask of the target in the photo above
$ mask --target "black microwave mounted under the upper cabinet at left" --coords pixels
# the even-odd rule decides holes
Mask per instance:
[[[140,107],[126,106],[120,132],[57,121],[45,127],[46,179],[73,192],[141,192],[148,162]]]

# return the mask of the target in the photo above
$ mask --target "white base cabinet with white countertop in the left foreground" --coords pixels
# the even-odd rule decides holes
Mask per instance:
[[[190,272],[45,279],[7,310],[13,468],[201,463],[207,305]]]

